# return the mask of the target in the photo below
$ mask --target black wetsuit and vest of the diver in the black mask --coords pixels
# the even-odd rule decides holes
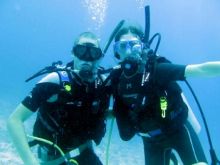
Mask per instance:
[[[59,73],[59,76],[62,77],[62,74]],[[33,135],[54,142],[65,153],[88,140],[100,143],[105,134],[104,115],[109,105],[109,95],[103,93],[100,77],[93,83],[83,83],[76,74],[68,73],[67,79],[69,81],[61,80],[60,84],[36,84],[31,95],[22,102],[31,111],[38,111]],[[70,85],[71,90],[67,91],[64,84]],[[48,101],[52,96],[57,96],[55,102]],[[48,149],[50,156],[60,156],[54,147],[44,143],[40,145]],[[80,165],[102,164],[90,147],[74,159]]]

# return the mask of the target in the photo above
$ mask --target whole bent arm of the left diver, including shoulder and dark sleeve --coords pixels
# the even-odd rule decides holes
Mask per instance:
[[[48,102],[53,102],[57,98],[56,95],[49,97],[53,92],[51,93],[51,91],[48,91],[48,85],[39,88],[39,85],[44,83],[59,84],[58,74],[53,72],[42,78],[32,90],[31,94],[18,105],[7,122],[9,134],[25,165],[39,165],[39,163],[28,145],[23,123],[38,109],[40,102],[45,101],[45,98],[48,98]],[[53,86],[53,90],[55,89],[56,87]]]

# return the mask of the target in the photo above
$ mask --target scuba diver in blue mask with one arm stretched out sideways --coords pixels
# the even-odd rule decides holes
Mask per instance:
[[[207,164],[176,81],[220,76],[220,61],[172,64],[149,48],[142,27],[131,22],[115,36],[114,55],[120,62],[109,77],[121,139],[141,136],[146,165],[169,165],[172,150],[184,165]]]

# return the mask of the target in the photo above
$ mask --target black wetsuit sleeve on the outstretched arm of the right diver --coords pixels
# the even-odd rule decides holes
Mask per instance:
[[[159,63],[156,65],[154,76],[158,83],[168,83],[170,81],[185,79],[186,65],[176,65],[171,63]]]

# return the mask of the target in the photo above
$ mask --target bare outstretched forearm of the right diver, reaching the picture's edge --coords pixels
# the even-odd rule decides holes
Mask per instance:
[[[220,76],[220,61],[187,65],[185,77],[213,77]]]

